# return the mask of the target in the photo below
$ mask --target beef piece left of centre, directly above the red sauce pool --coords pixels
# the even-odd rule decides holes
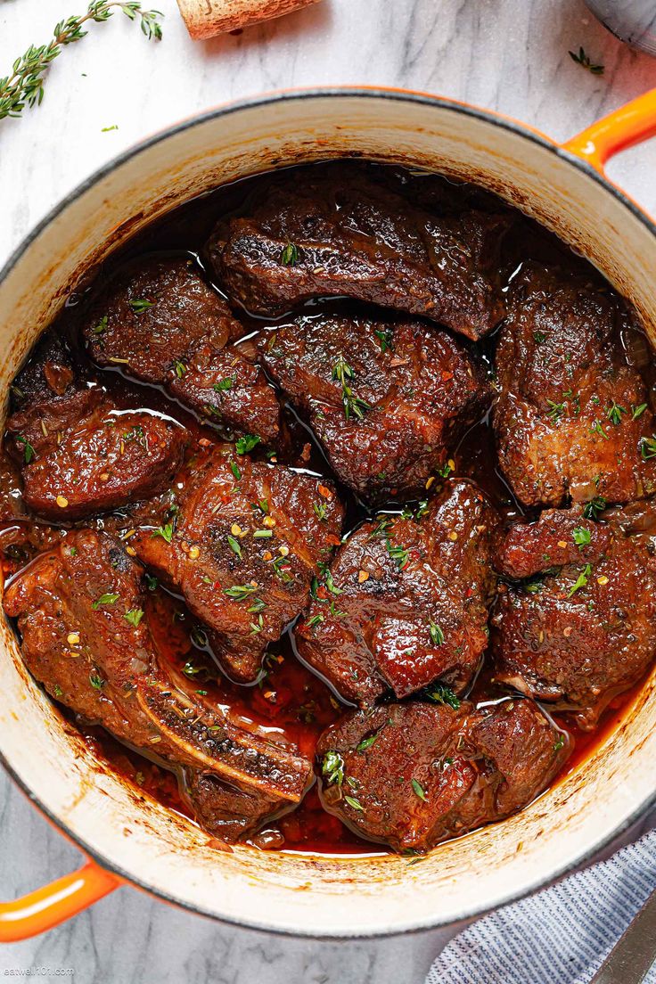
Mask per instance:
[[[215,448],[179,493],[175,530],[143,529],[131,544],[212,630],[228,674],[256,679],[268,643],[301,612],[319,565],[338,543],[332,487],[283,465]]]

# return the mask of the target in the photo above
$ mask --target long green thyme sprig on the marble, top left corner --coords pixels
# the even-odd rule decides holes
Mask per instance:
[[[149,40],[161,40],[159,19],[164,15],[157,10],[143,10],[136,0],[91,0],[86,14],[68,17],[55,26],[52,39],[47,44],[30,47],[12,65],[12,71],[0,79],[0,119],[20,116],[26,106],[40,105],[43,100],[44,76],[55,58],[67,44],[81,41],[87,36],[85,24],[108,21],[115,10],[122,11],[131,21],[139,21]]]

